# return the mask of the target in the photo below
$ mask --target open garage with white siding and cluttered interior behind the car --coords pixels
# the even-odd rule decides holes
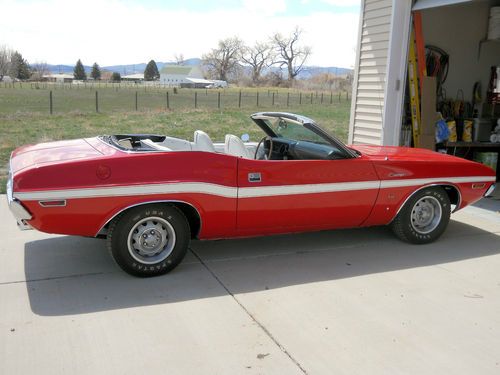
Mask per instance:
[[[447,152],[497,169],[498,180],[500,1],[361,5],[350,143]]]

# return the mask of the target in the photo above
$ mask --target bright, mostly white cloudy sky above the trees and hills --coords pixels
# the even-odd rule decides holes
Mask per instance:
[[[0,45],[30,63],[100,66],[202,57],[221,39],[247,45],[298,26],[307,65],[352,68],[360,0],[0,0]]]

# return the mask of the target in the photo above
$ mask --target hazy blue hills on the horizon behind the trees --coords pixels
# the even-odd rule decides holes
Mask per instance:
[[[174,65],[175,62],[173,61],[167,61],[167,62],[161,62],[157,61],[156,65],[158,66],[158,70],[161,70],[164,65]],[[192,58],[192,59],[187,59],[184,61],[184,65],[200,65],[201,64],[201,59],[200,58]],[[127,75],[127,74],[134,74],[134,73],[143,73],[144,70],[146,69],[147,63],[138,63],[138,64],[126,64],[126,65],[110,65],[110,66],[101,66],[102,70],[108,70],[110,72],[118,72],[121,75]],[[73,73],[73,66],[71,65],[48,65],[48,69],[52,73]],[[85,72],[87,74],[90,74],[90,71],[92,70],[91,66],[84,65]],[[272,68],[272,69],[278,69],[278,68]],[[344,74],[349,74],[352,73],[352,69],[346,69],[346,68],[339,68],[335,66],[329,66],[329,67],[321,67],[321,66],[307,66],[304,68],[302,72],[298,75],[297,78],[299,79],[307,79],[311,78],[315,75],[318,74],[324,74],[324,73],[330,73],[330,74],[335,74],[335,75],[344,75]]]

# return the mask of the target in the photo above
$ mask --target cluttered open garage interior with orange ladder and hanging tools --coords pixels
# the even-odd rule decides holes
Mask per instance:
[[[412,19],[401,143],[481,162],[497,171],[498,181],[500,1],[420,0]],[[423,54],[426,70],[418,77],[418,135],[412,125],[411,43],[415,68]]]

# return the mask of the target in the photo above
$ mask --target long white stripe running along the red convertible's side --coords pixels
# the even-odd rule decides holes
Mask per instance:
[[[474,183],[494,182],[494,176],[438,177],[419,179],[400,179],[362,182],[337,182],[327,184],[304,184],[282,186],[252,186],[236,188],[205,182],[173,182],[168,184],[112,186],[86,189],[45,190],[33,192],[14,192],[14,198],[23,200],[77,199],[117,197],[133,195],[197,193],[216,195],[224,198],[257,198],[281,195],[334,193],[340,191],[359,191],[368,189],[387,189],[408,186],[423,186],[434,183]]]

